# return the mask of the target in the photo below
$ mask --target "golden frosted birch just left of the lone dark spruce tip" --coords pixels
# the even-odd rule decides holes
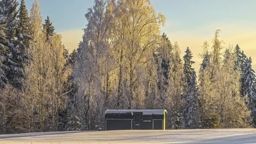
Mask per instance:
[[[36,99],[35,107],[37,107],[37,112],[39,117],[37,117],[40,122],[40,131],[44,131],[45,117],[48,112],[45,110],[47,101],[50,99],[47,85],[49,85],[50,79],[50,63],[49,55],[51,49],[48,43],[45,42],[44,33],[41,33],[37,37],[37,42],[31,45],[29,53],[32,56],[30,64],[25,67],[25,75],[27,77],[26,85],[28,94],[31,99]]]

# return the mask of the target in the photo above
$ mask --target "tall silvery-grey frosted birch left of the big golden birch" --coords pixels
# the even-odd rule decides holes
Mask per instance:
[[[104,21],[107,16],[106,6],[107,1],[95,0],[93,8],[89,8],[88,13],[85,14],[88,24],[84,29],[83,41],[80,43],[80,50],[73,69],[75,84],[78,86],[76,99],[80,101],[77,109],[80,111],[78,115],[83,121],[83,130],[90,126],[89,110],[98,108],[92,101],[102,100],[101,97],[96,98],[96,96],[101,96],[103,77],[101,66],[104,65],[104,58],[108,53],[106,51],[108,44],[104,41],[109,27],[109,21]],[[99,102],[98,105],[101,105],[101,101]]]

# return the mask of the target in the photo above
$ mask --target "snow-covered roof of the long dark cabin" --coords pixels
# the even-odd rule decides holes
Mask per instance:
[[[142,112],[142,115],[163,115],[167,111],[165,109],[108,109],[105,111],[105,115],[111,113],[131,113],[133,115],[133,112]]]

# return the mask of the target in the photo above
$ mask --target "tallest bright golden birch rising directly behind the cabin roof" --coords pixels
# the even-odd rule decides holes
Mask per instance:
[[[120,0],[121,20],[124,26],[124,52],[126,59],[127,88],[125,94],[128,109],[139,107],[134,102],[141,103],[145,93],[139,91],[142,88],[148,61],[152,61],[157,38],[160,35],[160,25],[164,24],[165,16],[161,13],[156,14],[149,0]]]

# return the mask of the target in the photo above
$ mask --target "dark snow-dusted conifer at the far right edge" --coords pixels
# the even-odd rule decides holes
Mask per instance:
[[[245,67],[245,82],[244,95],[248,96],[248,107],[251,109],[251,116],[253,118],[253,126],[256,127],[256,75],[251,66],[252,59],[246,59]]]

